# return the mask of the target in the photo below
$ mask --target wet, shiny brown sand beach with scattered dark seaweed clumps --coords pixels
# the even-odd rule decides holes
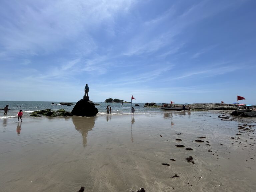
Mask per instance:
[[[253,192],[256,119],[227,114],[1,119],[0,191]]]

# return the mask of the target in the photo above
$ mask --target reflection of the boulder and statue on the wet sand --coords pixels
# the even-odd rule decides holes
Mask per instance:
[[[87,145],[87,134],[88,131],[92,130],[95,125],[96,117],[76,117],[72,116],[72,121],[75,125],[76,130],[82,134],[83,137],[83,146]]]

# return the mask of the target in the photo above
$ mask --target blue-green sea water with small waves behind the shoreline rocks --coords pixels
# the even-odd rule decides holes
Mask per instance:
[[[54,105],[52,105],[54,103]],[[0,119],[5,118],[17,118],[17,113],[20,109],[23,111],[23,117],[29,116],[31,112],[43,110],[43,109],[52,109],[54,111],[58,109],[65,109],[66,111],[72,111],[76,102],[70,102],[74,105],[56,105],[61,102],[53,101],[0,101]],[[95,102],[96,104],[96,102]],[[148,114],[148,113],[162,113],[163,110],[161,108],[152,108],[152,107],[144,107],[145,103],[97,103],[100,105],[96,105],[95,107],[99,110],[97,115],[107,115],[106,107],[109,105],[112,109],[112,115],[125,115],[131,113],[131,106],[135,109],[135,114]],[[135,104],[139,104],[139,106],[135,106]],[[4,107],[9,105],[9,112],[7,115],[4,115]],[[162,105],[161,103],[157,103],[157,105]]]

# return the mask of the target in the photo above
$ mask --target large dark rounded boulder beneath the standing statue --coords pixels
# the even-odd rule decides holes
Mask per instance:
[[[98,109],[95,107],[95,104],[92,101],[81,99],[76,103],[75,107],[71,111],[71,114],[83,117],[92,117],[95,116],[98,112]]]

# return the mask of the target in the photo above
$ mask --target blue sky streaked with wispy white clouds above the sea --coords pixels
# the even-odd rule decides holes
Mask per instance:
[[[256,1],[8,1],[0,100],[256,104]]]

